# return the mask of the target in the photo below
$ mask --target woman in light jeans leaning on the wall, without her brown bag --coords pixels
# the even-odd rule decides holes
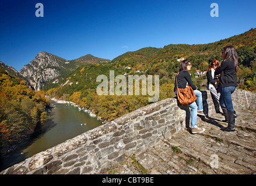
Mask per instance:
[[[190,103],[190,118],[191,118],[191,133],[202,133],[205,131],[205,128],[199,128],[197,126],[197,115],[203,115],[203,103],[202,103],[202,93],[197,90],[197,86],[192,83],[190,73],[188,71],[191,70],[191,62],[188,59],[183,60],[180,63],[180,71],[176,76],[174,92],[177,95],[177,87],[178,88],[186,88],[188,85],[192,88],[197,96],[197,100]],[[177,82],[177,83],[176,83]]]

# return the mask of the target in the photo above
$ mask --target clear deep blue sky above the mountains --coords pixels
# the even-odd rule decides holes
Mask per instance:
[[[43,3],[44,17],[36,17]],[[218,3],[219,17],[211,17]],[[256,27],[255,0],[1,0],[0,61],[22,69],[45,51],[114,59],[143,47],[206,44]]]

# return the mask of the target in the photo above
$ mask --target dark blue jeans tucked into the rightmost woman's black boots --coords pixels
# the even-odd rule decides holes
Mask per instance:
[[[234,112],[232,103],[232,94],[236,90],[236,87],[221,87],[220,86],[220,106]]]

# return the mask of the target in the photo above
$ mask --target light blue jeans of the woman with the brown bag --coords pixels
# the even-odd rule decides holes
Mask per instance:
[[[191,128],[197,128],[197,112],[203,111],[202,93],[194,90],[197,100],[190,104]]]

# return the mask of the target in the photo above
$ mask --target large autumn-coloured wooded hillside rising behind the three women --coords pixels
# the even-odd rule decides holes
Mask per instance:
[[[141,76],[159,75],[160,98],[173,98],[174,77],[178,72],[181,57],[190,59],[192,63],[191,76],[194,83],[201,89],[206,89],[206,77],[195,78],[195,71],[205,71],[212,60],[222,61],[223,47],[233,45],[239,54],[239,88],[256,92],[256,28],[246,33],[234,35],[225,40],[202,45],[167,45],[163,48],[147,47],[135,52],[127,52],[108,63],[81,66],[71,73],[64,81],[55,84],[55,88],[47,94],[56,98],[73,101],[78,105],[93,110],[102,120],[113,120],[141,106],[148,105],[148,95],[97,95],[97,76],[108,77],[110,70],[115,76],[119,74]]]

